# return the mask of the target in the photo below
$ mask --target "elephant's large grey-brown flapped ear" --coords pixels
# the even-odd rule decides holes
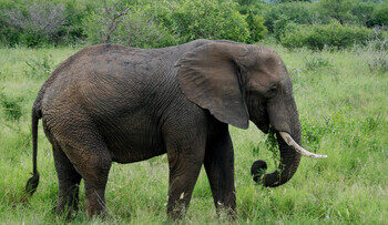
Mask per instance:
[[[219,121],[247,129],[248,111],[243,98],[237,64],[241,44],[210,43],[194,49],[177,62],[178,80],[187,99]]]

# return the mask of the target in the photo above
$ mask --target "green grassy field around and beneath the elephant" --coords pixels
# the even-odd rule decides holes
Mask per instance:
[[[253,124],[229,127],[235,146],[237,221],[241,223],[388,223],[388,73],[387,52],[367,48],[313,52],[273,45],[294,81],[304,146],[327,154],[303,158],[290,182],[277,188],[256,185],[252,163],[276,156]],[[57,217],[58,181],[51,146],[39,129],[38,167],[41,182],[32,198],[23,188],[32,171],[30,109],[45,78],[72,48],[0,49],[0,223],[63,223]],[[166,221],[167,162],[114,164],[106,187],[109,217],[84,216],[74,223],[147,224]],[[216,223],[204,173],[196,183],[186,223]]]

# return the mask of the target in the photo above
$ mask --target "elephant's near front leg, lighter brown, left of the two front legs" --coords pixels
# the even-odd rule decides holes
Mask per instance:
[[[167,157],[170,166],[167,215],[171,219],[178,219],[188,207],[194,185],[198,177],[204,154],[205,135],[185,136],[170,141]]]

